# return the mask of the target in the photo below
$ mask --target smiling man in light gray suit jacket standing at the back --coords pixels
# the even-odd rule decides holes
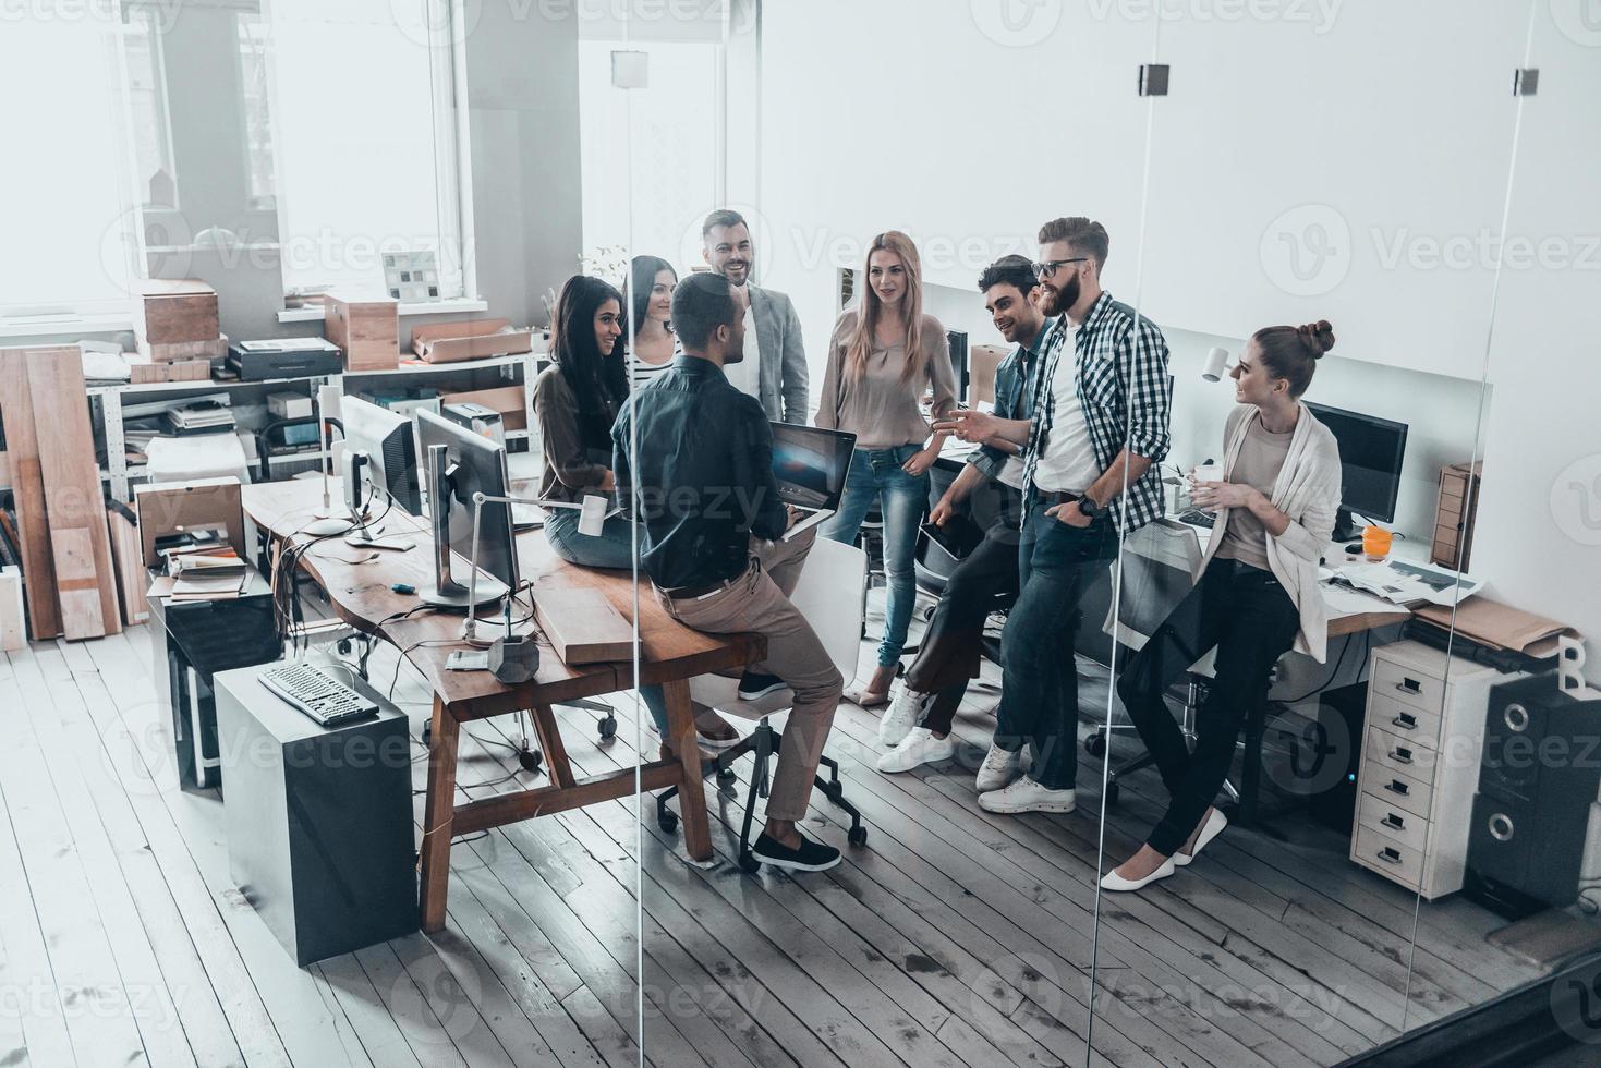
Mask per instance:
[[[719,208],[701,226],[703,255],[711,269],[728,279],[736,299],[744,298],[744,363],[732,363],[728,381],[762,402],[775,423],[805,424],[809,415],[805,349],[800,344],[800,317],[778,290],[751,282],[751,227],[732,208]],[[751,352],[751,346],[756,352]],[[752,359],[754,357],[754,359]]]

